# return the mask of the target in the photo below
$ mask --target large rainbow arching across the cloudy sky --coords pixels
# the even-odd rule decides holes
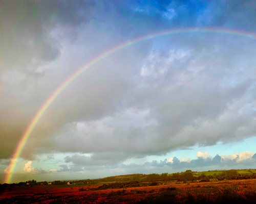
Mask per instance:
[[[4,183],[10,183],[12,179],[12,174],[14,172],[17,160],[22,153],[22,150],[24,146],[26,145],[26,142],[28,141],[32,131],[34,130],[36,124],[40,120],[41,116],[44,115],[48,107],[52,104],[53,100],[59,95],[63,89],[65,89],[72,81],[74,81],[82,72],[87,70],[88,68],[92,67],[94,64],[99,62],[100,60],[112,55],[113,53],[118,52],[119,50],[133,45],[135,43],[141,42],[143,40],[148,40],[157,36],[164,36],[164,35],[170,35],[170,34],[183,34],[183,33],[190,33],[190,32],[207,32],[207,33],[224,33],[224,34],[232,34],[232,35],[240,35],[244,37],[249,37],[256,39],[256,34],[254,33],[248,33],[244,31],[238,31],[238,30],[228,30],[228,29],[221,29],[221,28],[185,28],[185,29],[174,29],[174,30],[166,30],[146,36],[141,36],[129,41],[126,41],[122,44],[119,44],[115,47],[112,47],[109,50],[106,50],[101,55],[95,57],[90,62],[88,62],[86,65],[82,66],[80,69],[75,71],[65,82],[63,82],[51,95],[47,100],[44,102],[44,104],[40,107],[40,109],[37,111],[31,122],[29,123],[25,133],[20,138],[18,145],[15,148],[15,151],[13,153],[12,159],[10,161],[9,166],[7,167],[4,177]]]

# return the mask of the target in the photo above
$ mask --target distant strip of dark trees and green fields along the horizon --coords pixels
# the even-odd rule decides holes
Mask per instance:
[[[33,186],[33,185],[67,185],[69,184],[97,184],[97,183],[108,183],[108,182],[164,182],[164,181],[176,181],[176,182],[209,182],[209,181],[223,181],[223,180],[241,180],[241,179],[256,179],[255,171],[250,169],[246,170],[248,173],[238,173],[238,170],[215,170],[213,172],[196,172],[191,170],[186,170],[185,172],[177,172],[173,174],[168,173],[151,173],[151,174],[128,174],[128,175],[119,175],[119,176],[109,176],[102,179],[85,179],[85,180],[76,180],[76,181],[54,181],[51,183],[48,182],[36,182],[36,180],[30,180],[26,182],[19,182],[18,184],[0,184],[0,191],[6,187],[11,186]],[[208,175],[207,175],[208,174]]]

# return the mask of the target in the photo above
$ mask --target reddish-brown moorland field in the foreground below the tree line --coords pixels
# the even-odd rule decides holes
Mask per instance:
[[[155,185],[155,186],[151,186]],[[137,186],[137,187],[131,187]],[[122,188],[118,188],[122,187]],[[256,179],[202,183],[112,183],[10,187],[2,203],[255,203]]]

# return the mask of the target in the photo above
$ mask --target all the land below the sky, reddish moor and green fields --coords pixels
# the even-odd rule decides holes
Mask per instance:
[[[69,185],[68,185],[69,184]],[[0,185],[1,203],[255,203],[256,171],[186,170]]]

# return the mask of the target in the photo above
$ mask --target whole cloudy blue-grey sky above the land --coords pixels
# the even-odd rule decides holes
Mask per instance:
[[[0,1],[0,181],[95,58],[11,183],[256,168],[255,21],[251,0]]]

